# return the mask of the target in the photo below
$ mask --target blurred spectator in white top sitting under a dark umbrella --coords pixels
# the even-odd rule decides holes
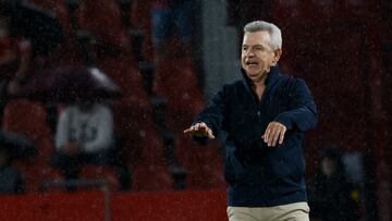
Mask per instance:
[[[66,107],[60,113],[54,143],[51,165],[65,180],[78,179],[83,164],[111,163],[115,150],[111,110],[95,101]]]

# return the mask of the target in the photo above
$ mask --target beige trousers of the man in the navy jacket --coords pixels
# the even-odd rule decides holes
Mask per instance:
[[[307,202],[275,207],[228,207],[229,221],[309,221]]]

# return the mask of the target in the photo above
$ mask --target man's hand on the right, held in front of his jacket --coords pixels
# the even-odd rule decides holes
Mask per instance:
[[[286,127],[279,122],[271,122],[268,124],[265,134],[261,136],[267,146],[275,147],[278,144],[283,144],[284,134],[286,132]]]

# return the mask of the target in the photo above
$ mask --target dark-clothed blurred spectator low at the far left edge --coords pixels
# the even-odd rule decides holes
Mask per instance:
[[[0,194],[24,192],[22,174],[12,167],[12,156],[3,140],[0,143]]]

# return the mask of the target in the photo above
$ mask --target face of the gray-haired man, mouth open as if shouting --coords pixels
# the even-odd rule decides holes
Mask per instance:
[[[244,34],[241,64],[254,83],[262,81],[280,59],[281,49],[271,48],[270,37],[267,30]]]

